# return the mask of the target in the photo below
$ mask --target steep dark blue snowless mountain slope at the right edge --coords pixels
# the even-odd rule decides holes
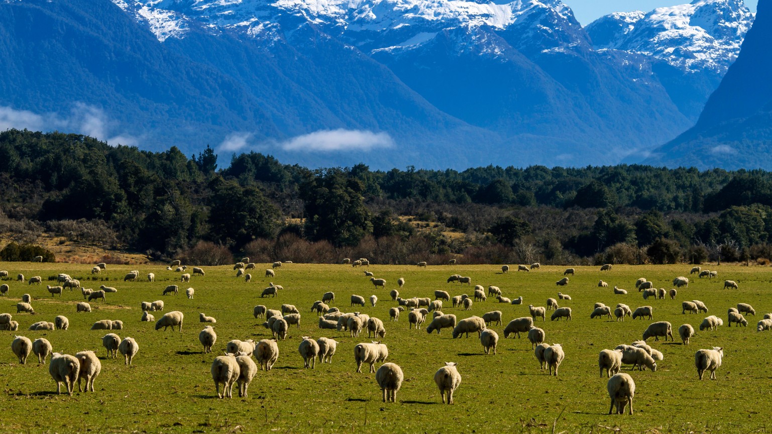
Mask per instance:
[[[772,168],[772,5],[761,0],[740,56],[710,96],[696,125],[657,148],[645,164]]]

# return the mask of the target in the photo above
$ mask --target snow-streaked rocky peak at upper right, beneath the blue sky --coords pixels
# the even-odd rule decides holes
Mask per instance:
[[[642,53],[682,70],[723,74],[740,53],[754,16],[743,0],[695,0],[646,14],[605,15],[585,29],[596,49]]]

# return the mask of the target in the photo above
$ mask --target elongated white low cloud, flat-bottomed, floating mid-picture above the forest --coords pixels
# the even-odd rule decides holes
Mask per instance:
[[[375,148],[394,146],[388,133],[363,130],[321,130],[293,137],[279,143],[285,151],[334,152],[356,149],[371,151]]]

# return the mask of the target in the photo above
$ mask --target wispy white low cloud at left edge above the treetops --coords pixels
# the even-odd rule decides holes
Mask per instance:
[[[31,131],[63,131],[84,134],[108,144],[137,146],[139,140],[132,134],[120,132],[116,121],[110,120],[102,110],[84,103],[75,103],[69,114],[37,114],[29,110],[0,107],[0,131],[16,128]]]

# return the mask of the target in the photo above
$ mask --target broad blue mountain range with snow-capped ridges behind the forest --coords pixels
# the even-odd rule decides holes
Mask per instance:
[[[697,119],[738,2],[583,29],[558,0],[0,0],[0,109],[312,167],[615,164]]]

